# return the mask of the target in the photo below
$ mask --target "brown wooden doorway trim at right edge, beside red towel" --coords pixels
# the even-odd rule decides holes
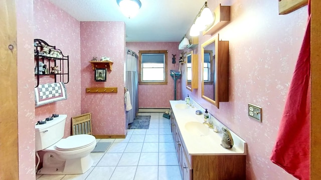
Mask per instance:
[[[321,1],[311,0],[311,156],[310,179],[321,179]]]

